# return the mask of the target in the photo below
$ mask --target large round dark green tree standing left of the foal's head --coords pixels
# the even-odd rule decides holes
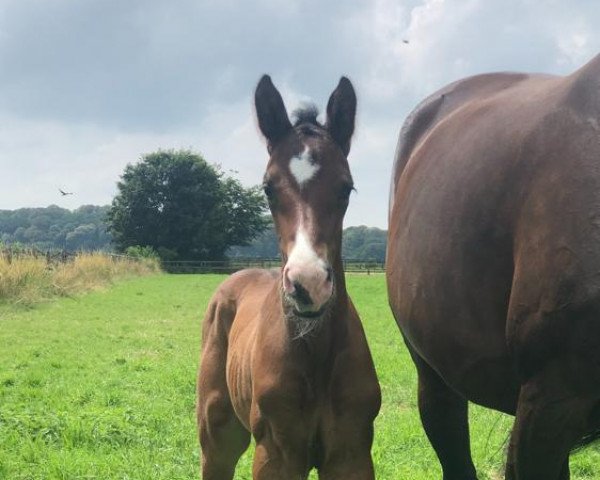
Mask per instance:
[[[216,260],[266,227],[264,196],[188,151],[158,151],[127,165],[108,213],[120,251],[140,245],[161,258]]]

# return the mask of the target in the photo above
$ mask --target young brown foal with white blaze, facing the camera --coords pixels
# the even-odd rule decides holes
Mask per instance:
[[[255,103],[283,268],[231,276],[208,306],[198,377],[202,475],[233,478],[251,432],[254,479],[304,479],[316,467],[322,479],[369,480],[380,391],[341,257],[354,89],[340,80],[325,125],[310,109],[292,125],[268,76]]]

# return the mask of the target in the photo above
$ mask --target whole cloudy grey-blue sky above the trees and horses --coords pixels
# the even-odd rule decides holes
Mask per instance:
[[[477,73],[571,73],[600,52],[599,19],[596,0],[0,0],[0,209],[109,204],[124,167],[158,149],[258,184],[260,76],[291,112],[323,111],[346,75],[345,225],[386,228],[398,132],[420,100]]]

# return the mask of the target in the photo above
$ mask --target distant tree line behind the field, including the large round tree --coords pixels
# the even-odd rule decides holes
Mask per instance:
[[[160,150],[125,167],[111,205],[0,210],[0,242],[42,250],[115,250],[163,260],[276,257],[259,186],[243,187],[189,150]],[[383,261],[386,232],[344,230],[348,259]]]

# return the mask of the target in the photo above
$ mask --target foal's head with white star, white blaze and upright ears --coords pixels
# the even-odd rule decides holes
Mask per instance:
[[[356,95],[342,77],[321,125],[316,109],[290,122],[281,95],[265,75],[255,94],[258,125],[270,154],[265,194],[279,235],[286,304],[299,317],[319,317],[341,270],[344,214],[353,190],[346,159],[354,131]]]

